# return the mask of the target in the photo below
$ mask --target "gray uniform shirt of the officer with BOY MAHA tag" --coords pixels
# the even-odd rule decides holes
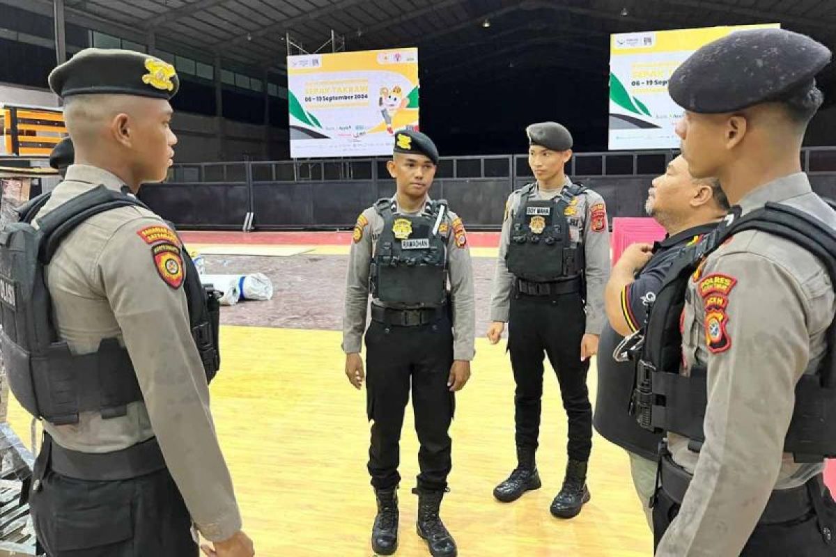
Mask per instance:
[[[572,181],[566,177],[563,187],[571,185]],[[508,196],[505,205],[505,220],[502,221],[502,236],[499,241],[499,256],[497,269],[493,277],[493,293],[491,296],[491,321],[508,321],[511,311],[511,294],[514,287],[514,276],[505,265],[505,256],[511,244],[511,228],[517,210],[523,204],[522,190],[516,190]],[[528,199],[551,200],[560,195],[560,190],[543,191],[539,185],[534,188]],[[604,198],[592,190],[586,190],[575,198],[574,214],[567,215],[569,234],[573,243],[582,243],[586,259],[586,332],[600,335],[604,328],[606,314],[604,312],[604,286],[609,280],[609,226],[607,225],[606,205]],[[594,225],[593,213],[603,212],[604,225]]]

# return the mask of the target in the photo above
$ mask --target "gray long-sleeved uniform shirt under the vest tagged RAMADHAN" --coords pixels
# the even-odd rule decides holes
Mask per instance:
[[[395,200],[395,197],[392,200]],[[426,203],[429,203],[429,199]],[[426,203],[417,213],[406,213],[398,206],[396,214],[420,215],[426,210]],[[371,258],[383,231],[384,222],[377,210],[370,207],[363,211],[357,226],[354,227],[354,242],[351,244],[349,272],[345,281],[343,351],[346,354],[360,352],[362,346],[369,305]],[[470,249],[466,244],[464,226],[456,213],[448,211],[444,225],[447,229],[447,276],[453,307],[453,359],[469,362],[476,354],[476,309]],[[443,228],[440,231],[443,231]],[[463,239],[464,243],[462,244],[461,240],[456,241],[456,237]],[[380,306],[385,305],[379,300],[374,302]]]

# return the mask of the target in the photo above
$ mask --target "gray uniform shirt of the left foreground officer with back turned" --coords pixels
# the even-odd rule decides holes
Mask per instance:
[[[70,166],[38,215],[98,185],[119,191],[123,183],[105,170]],[[156,436],[191,518],[206,539],[221,541],[241,529],[241,516],[183,286],[172,288],[157,271],[151,246],[140,236],[150,226],[167,228],[141,207],[94,215],[67,235],[46,270],[54,319],[69,349],[86,354],[105,338],[119,339],[145,402],[130,403],[122,417],[84,412],[77,424],[43,422],[43,428],[55,443],[84,453],[118,451]]]

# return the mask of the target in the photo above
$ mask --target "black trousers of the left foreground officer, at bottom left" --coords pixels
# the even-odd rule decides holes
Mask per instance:
[[[48,557],[196,557],[191,515],[168,469],[90,482],[35,462],[29,507]],[[44,469],[46,468],[46,469]]]

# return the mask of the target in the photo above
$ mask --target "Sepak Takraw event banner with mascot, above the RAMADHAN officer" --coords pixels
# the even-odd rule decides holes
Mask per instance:
[[[290,156],[391,154],[418,129],[418,49],[288,56]]]

